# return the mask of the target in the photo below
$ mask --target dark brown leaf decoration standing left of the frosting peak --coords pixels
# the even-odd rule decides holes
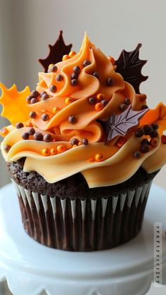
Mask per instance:
[[[43,65],[45,73],[47,73],[47,70],[49,68],[49,65],[51,63],[56,64],[59,61],[62,61],[62,58],[65,54],[69,54],[70,50],[72,48],[72,44],[65,45],[64,39],[63,39],[63,31],[59,32],[59,37],[54,45],[49,44],[49,56],[46,58],[39,59],[39,63]]]

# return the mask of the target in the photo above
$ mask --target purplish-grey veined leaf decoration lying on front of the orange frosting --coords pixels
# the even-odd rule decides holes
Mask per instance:
[[[130,128],[139,125],[139,118],[148,111],[148,108],[141,111],[132,110],[130,105],[120,115],[111,115],[107,121],[98,120],[106,131],[106,142],[117,136],[125,136]]]

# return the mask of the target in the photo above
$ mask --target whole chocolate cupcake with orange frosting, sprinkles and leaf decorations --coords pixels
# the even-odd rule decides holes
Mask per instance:
[[[87,34],[80,51],[62,32],[40,60],[36,89],[0,84],[1,152],[15,184],[23,227],[45,246],[111,249],[141,230],[153,178],[166,163],[166,106],[150,109],[139,85],[146,63],[115,60]]]

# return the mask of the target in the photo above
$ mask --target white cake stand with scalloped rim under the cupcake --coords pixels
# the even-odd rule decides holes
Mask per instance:
[[[107,251],[49,249],[23,230],[13,184],[0,190],[0,280],[14,295],[143,295],[153,281],[153,223],[162,222],[166,267],[166,192],[153,185],[141,233]]]

